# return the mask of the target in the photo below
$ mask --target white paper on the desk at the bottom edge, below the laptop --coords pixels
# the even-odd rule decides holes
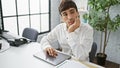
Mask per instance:
[[[89,67],[78,61],[66,60],[62,64],[58,65],[56,68],[89,68]]]

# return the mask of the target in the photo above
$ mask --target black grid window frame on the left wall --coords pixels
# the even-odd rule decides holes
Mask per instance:
[[[40,1],[42,1],[42,0],[40,0]],[[23,14],[23,15],[18,15],[18,7],[17,7],[17,0],[15,0],[15,7],[16,7],[16,15],[10,15],[10,16],[3,16],[3,9],[2,9],[2,0],[0,0],[0,4],[1,4],[1,7],[0,7],[0,10],[1,10],[1,23],[2,23],[2,27],[3,27],[3,31],[5,31],[4,30],[4,18],[10,18],[10,17],[16,17],[16,23],[17,23],[17,34],[18,35],[20,35],[20,28],[19,28],[19,19],[18,19],[18,17],[20,17],[20,16],[28,16],[29,17],[29,27],[31,28],[31,16],[32,15],[39,15],[39,16],[41,16],[42,14],[48,14],[48,24],[49,24],[49,26],[48,26],[48,30],[47,31],[44,31],[44,32],[41,32],[42,30],[40,29],[40,32],[39,32],[39,34],[44,34],[44,33],[48,33],[48,32],[50,32],[51,31],[51,0],[48,0],[48,12],[47,13],[41,13],[41,12],[39,12],[39,13],[30,13],[30,0],[28,0],[28,8],[29,8],[29,14]],[[39,3],[40,4],[40,3]],[[41,6],[39,6],[39,7],[41,7]],[[40,9],[41,10],[41,9]],[[40,22],[41,22],[41,20],[40,20]],[[41,25],[40,25],[41,26]]]

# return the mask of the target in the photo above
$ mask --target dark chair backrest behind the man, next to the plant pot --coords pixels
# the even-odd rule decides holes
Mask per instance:
[[[89,60],[90,60],[90,62],[94,61],[96,51],[97,51],[97,44],[95,42],[93,42],[92,49],[91,49],[91,51],[89,53]]]

